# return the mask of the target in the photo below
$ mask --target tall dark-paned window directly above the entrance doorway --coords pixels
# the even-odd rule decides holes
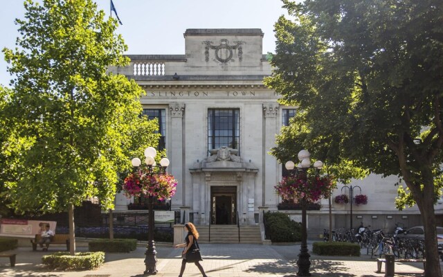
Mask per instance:
[[[239,150],[239,109],[208,109],[208,149]]]

